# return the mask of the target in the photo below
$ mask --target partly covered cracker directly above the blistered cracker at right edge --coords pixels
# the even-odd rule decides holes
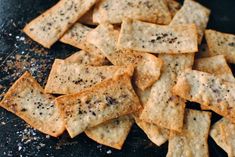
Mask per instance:
[[[225,81],[235,83],[233,73],[223,55],[197,59],[195,60],[194,68],[214,74]]]

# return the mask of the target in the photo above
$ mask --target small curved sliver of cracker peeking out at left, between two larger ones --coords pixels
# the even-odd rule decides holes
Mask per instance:
[[[78,51],[64,60],[66,63],[77,63],[91,66],[101,66],[108,64],[104,56],[97,55],[86,51]]]

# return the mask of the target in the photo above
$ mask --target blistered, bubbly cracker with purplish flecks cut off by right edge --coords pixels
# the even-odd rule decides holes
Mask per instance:
[[[196,70],[182,72],[173,94],[197,102],[235,122],[235,84]]]

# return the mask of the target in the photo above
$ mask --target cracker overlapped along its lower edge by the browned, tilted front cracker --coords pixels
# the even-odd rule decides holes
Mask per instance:
[[[45,86],[45,92],[74,94],[116,75],[128,74],[132,76],[133,71],[132,66],[89,66],[55,59]]]

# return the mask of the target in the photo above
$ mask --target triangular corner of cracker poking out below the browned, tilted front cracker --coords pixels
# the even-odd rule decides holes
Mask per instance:
[[[85,133],[100,144],[120,150],[133,122],[131,116],[126,115],[87,129]]]

